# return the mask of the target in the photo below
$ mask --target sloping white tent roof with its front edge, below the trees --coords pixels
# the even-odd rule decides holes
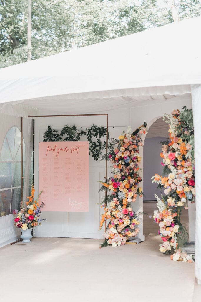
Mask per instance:
[[[0,69],[0,102],[89,112],[190,93],[201,83],[200,25],[201,16]]]

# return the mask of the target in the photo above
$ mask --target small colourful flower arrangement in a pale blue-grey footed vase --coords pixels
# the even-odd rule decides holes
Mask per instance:
[[[13,210],[13,214],[17,215],[17,217],[14,218],[15,226],[21,229],[23,242],[30,242],[30,238],[33,237],[31,235],[33,227],[41,225],[41,221],[46,221],[45,218],[39,219],[41,208],[45,205],[44,202],[39,205],[39,196],[42,191],[36,198],[36,201],[33,201],[34,192],[35,189],[32,186],[31,196],[27,197],[29,199],[29,201],[26,202],[27,208],[25,208],[24,202],[21,202],[20,211]]]

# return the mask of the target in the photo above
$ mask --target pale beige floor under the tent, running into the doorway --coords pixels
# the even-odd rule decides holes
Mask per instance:
[[[42,238],[0,249],[1,301],[199,302],[194,263],[159,252],[158,225],[145,202],[139,245],[99,249],[100,239]]]

